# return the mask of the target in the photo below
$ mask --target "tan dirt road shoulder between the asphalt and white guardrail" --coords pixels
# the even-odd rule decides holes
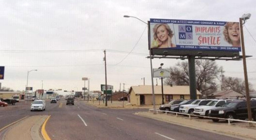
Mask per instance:
[[[174,117],[166,114],[156,114],[153,115],[151,112],[139,112],[135,113],[135,115],[148,117],[176,125],[181,125],[185,127],[190,127],[198,130],[203,130],[207,132],[214,132],[222,135],[227,135],[231,137],[241,138],[241,139],[253,139],[256,140],[256,131],[248,128],[234,127],[219,124],[212,124],[207,122],[199,122],[196,120],[184,119],[181,117]]]

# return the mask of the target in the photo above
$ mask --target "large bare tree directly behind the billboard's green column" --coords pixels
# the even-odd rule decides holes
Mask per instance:
[[[187,86],[189,85],[188,62],[177,63],[171,67],[171,78],[165,82],[170,85]],[[215,61],[196,60],[195,73],[197,90],[202,94],[210,94],[217,90],[218,75],[221,68],[218,67]]]

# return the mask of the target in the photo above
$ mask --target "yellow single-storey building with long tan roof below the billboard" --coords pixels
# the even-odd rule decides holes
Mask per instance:
[[[164,102],[167,103],[172,99],[190,99],[189,86],[163,86]],[[201,93],[196,90],[197,99]],[[162,88],[154,86],[155,104],[162,104]],[[152,103],[152,86],[131,86],[129,90],[130,103],[135,105],[151,105]]]

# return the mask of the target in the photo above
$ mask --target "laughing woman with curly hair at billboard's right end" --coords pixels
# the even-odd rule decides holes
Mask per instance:
[[[241,47],[240,44],[240,28],[239,24],[235,22],[227,22],[224,25],[224,39],[233,47]]]

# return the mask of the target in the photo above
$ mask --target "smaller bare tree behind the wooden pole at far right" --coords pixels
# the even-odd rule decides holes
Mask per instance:
[[[226,90],[233,90],[244,95],[246,94],[245,81],[242,81],[242,79],[237,77],[224,77],[224,88]],[[249,83],[249,91],[255,91],[251,83]]]

